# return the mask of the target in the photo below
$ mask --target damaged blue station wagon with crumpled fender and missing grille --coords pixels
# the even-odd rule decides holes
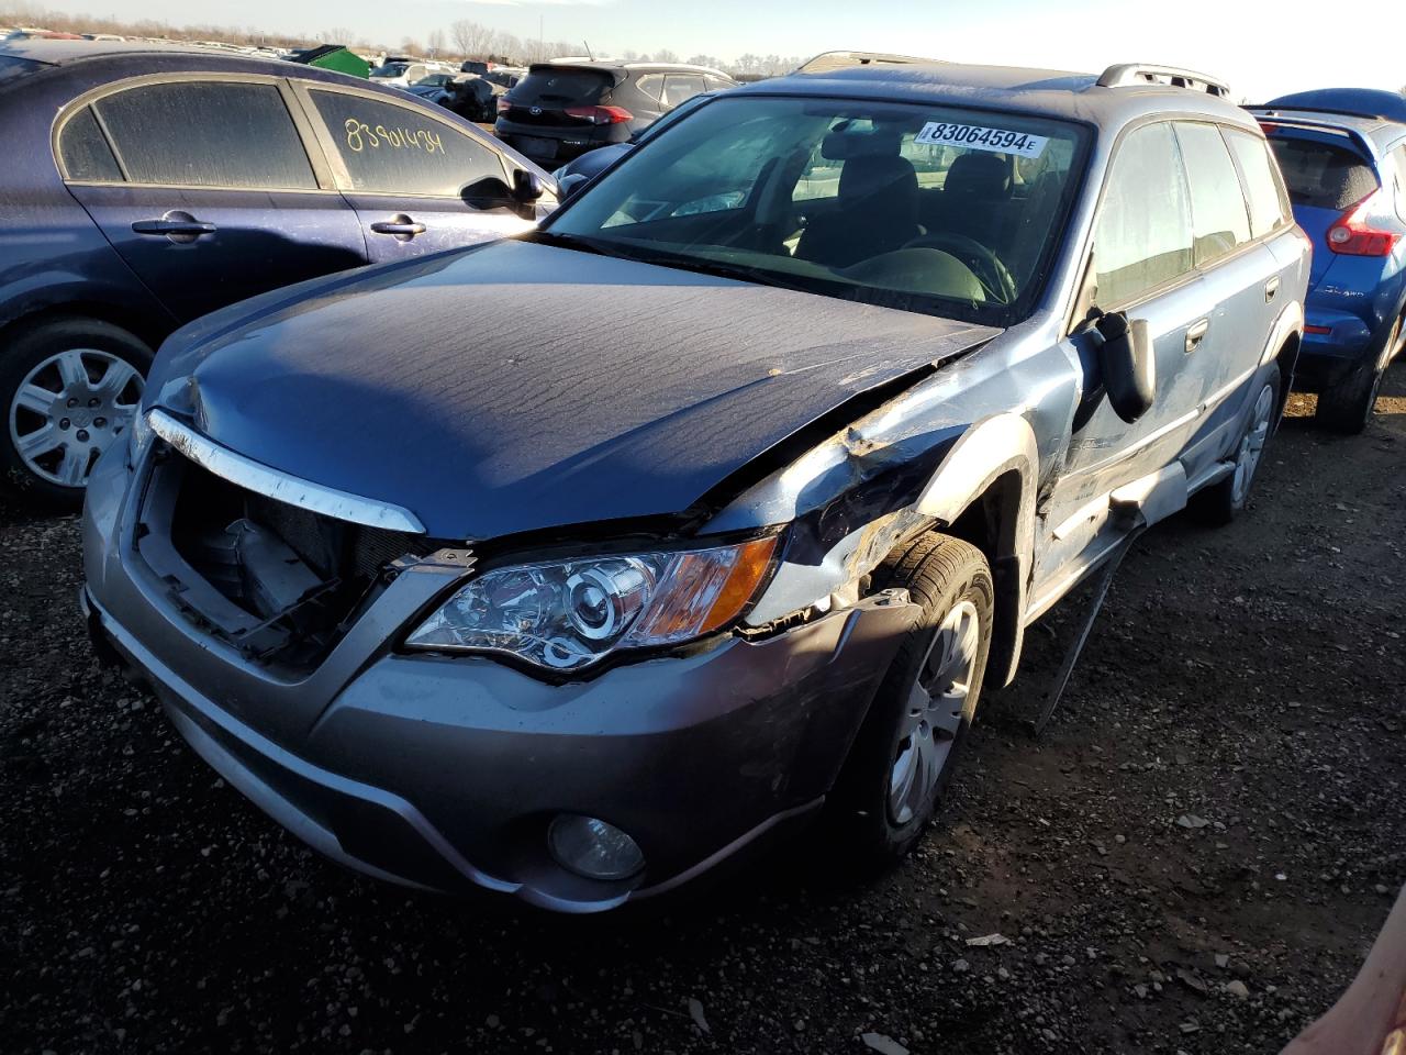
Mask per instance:
[[[90,625],[375,876],[596,912],[821,814],[887,862],[1032,620],[1244,506],[1308,263],[1202,75],[728,91],[527,236],[172,336]]]

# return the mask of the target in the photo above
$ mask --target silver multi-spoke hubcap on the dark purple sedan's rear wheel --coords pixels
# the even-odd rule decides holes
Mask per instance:
[[[25,468],[60,487],[83,487],[98,456],[127,432],[142,398],[136,367],[90,347],[49,356],[10,402],[10,442]]]

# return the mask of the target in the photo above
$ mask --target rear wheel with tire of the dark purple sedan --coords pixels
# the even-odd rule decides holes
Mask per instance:
[[[152,350],[97,319],[21,329],[0,357],[0,482],[7,492],[76,509],[98,456],[127,439]]]

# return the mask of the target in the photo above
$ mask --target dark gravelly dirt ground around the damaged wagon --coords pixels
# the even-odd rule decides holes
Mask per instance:
[[[1247,516],[1139,543],[1043,743],[1033,632],[907,867],[664,917],[323,862],[96,667],[76,520],[0,512],[0,1049],[1277,1052],[1406,879],[1406,366],[1362,437],[1303,411]]]

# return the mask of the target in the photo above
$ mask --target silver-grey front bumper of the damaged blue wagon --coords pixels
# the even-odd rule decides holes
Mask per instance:
[[[494,660],[396,654],[454,581],[406,573],[298,682],[204,633],[131,544],[121,453],[84,511],[86,599],[103,641],[233,786],[309,845],[371,875],[478,886],[562,912],[671,890],[811,813],[915,609],[870,598],[773,637],[727,637],[550,685]],[[602,817],[647,865],[616,882],[554,862],[560,813]]]

